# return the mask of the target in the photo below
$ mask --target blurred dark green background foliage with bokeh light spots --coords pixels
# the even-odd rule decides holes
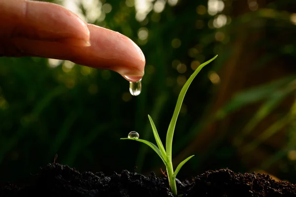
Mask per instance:
[[[164,166],[130,131],[165,140],[191,84],[173,142],[179,178],[228,167],[296,182],[295,0],[56,0],[83,20],[134,40],[146,56],[143,91],[109,70],[43,58],[0,58],[0,182],[57,162],[78,170],[148,174]]]

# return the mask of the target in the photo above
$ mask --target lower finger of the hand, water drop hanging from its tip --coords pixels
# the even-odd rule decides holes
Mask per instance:
[[[70,60],[94,68],[111,69],[121,75],[143,76],[145,57],[141,49],[128,37],[111,30],[87,25],[89,47],[74,47],[59,42],[13,38],[19,51],[32,56]]]

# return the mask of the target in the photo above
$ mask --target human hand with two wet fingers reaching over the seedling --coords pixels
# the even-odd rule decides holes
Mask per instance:
[[[33,0],[0,0],[0,56],[69,60],[111,69],[132,82],[145,67],[143,52],[128,37],[86,24],[60,5]]]

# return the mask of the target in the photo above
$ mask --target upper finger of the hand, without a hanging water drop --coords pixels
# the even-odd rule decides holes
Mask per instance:
[[[0,39],[27,37],[54,41],[77,38],[89,41],[87,25],[64,7],[41,1],[0,0]]]

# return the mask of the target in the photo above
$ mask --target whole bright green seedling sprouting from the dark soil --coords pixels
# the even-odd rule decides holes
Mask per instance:
[[[173,193],[174,196],[177,195],[177,186],[176,186],[176,176],[178,174],[178,172],[180,171],[181,167],[190,159],[192,158],[194,155],[188,157],[187,159],[185,159],[183,162],[181,162],[177,168],[174,171],[173,168],[173,163],[172,163],[172,143],[173,143],[173,136],[174,136],[174,131],[175,131],[175,126],[176,126],[176,122],[177,122],[177,118],[182,106],[182,102],[183,99],[185,97],[185,94],[189,88],[189,85],[191,84],[191,82],[193,81],[194,77],[198,74],[198,72],[207,64],[209,64],[210,62],[212,62],[213,60],[215,60],[217,58],[218,55],[216,55],[214,58],[212,58],[211,60],[203,63],[202,65],[198,66],[196,68],[196,70],[193,72],[193,74],[189,77],[189,79],[186,81],[185,85],[183,86],[178,100],[177,100],[177,104],[175,107],[175,111],[172,117],[172,120],[170,122],[168,131],[167,131],[167,136],[166,136],[166,150],[164,149],[162,142],[159,138],[158,132],[156,130],[156,127],[152,121],[152,118],[148,115],[151,127],[152,127],[152,131],[154,134],[154,138],[156,140],[157,146],[154,145],[153,143],[144,140],[144,139],[138,139],[138,138],[120,138],[120,139],[130,139],[130,140],[136,140],[136,141],[140,141],[143,142],[145,144],[147,144],[149,147],[151,147],[156,153],[157,155],[160,157],[160,159],[162,160],[162,162],[165,164],[166,169],[167,169],[167,175],[168,175],[168,180],[169,180],[169,185],[171,187],[171,191]]]

